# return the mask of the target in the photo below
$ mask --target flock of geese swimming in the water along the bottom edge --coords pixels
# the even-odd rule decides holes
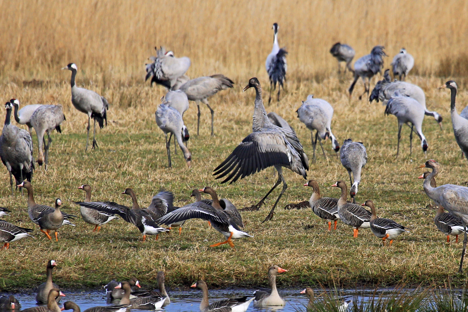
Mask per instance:
[[[22,312],[60,312],[64,310],[73,310],[73,312],[81,312],[80,307],[73,301],[66,301],[62,307],[59,307],[61,297],[66,295],[60,291],[57,284],[52,282],[52,272],[57,266],[57,262],[50,260],[46,267],[46,281],[37,288],[36,302],[37,306],[21,310],[21,303],[15,296],[0,297],[0,311],[22,311]],[[284,306],[285,300],[279,295],[276,288],[276,276],[280,273],[287,272],[284,268],[273,265],[268,269],[268,282],[270,291],[256,290],[253,296],[248,295],[241,297],[232,297],[221,299],[210,304],[208,299],[208,287],[203,280],[198,280],[193,283],[190,288],[198,288],[202,290],[203,297],[200,302],[200,312],[245,312],[251,303],[256,307],[268,306]],[[84,312],[125,312],[130,309],[155,310],[161,309],[163,306],[169,305],[171,300],[164,285],[165,276],[163,271],[159,271],[156,280],[158,282],[158,290],[132,290],[132,287],[141,288],[139,280],[132,277],[128,281],[117,282],[110,281],[104,286],[106,290],[107,305],[94,306],[84,310]],[[309,298],[307,306],[309,308],[314,304],[316,297],[314,290],[307,287],[300,293],[305,293]],[[351,300],[345,299],[338,302],[338,311],[344,312],[351,303]]]

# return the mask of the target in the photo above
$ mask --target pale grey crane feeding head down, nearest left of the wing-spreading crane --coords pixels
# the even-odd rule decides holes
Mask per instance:
[[[177,109],[169,107],[166,103],[161,103],[156,110],[155,113],[156,123],[158,124],[159,128],[164,132],[164,136],[166,137],[166,150],[168,152],[168,163],[169,167],[171,165],[171,153],[170,153],[170,143],[171,138],[174,135],[174,139],[180,146],[180,149],[183,152],[183,157],[187,161],[187,166],[190,167],[191,162],[191,154],[187,146],[183,144],[184,140],[188,140],[190,138],[189,131],[187,127],[183,124],[182,116],[177,111]],[[184,131],[184,136],[182,136],[182,132]],[[169,140],[168,140],[168,133]]]

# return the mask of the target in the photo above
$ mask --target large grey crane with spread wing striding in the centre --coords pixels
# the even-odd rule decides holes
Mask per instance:
[[[270,213],[263,220],[265,222],[273,217],[273,211],[287,189],[282,167],[288,168],[306,179],[309,165],[304,148],[294,133],[290,129],[278,127],[270,122],[263,106],[262,88],[258,79],[251,78],[243,90],[250,87],[254,87],[256,91],[253,132],[244,138],[226,160],[213,170],[213,175],[218,175],[216,179],[220,179],[229,174],[221,183],[229,180],[231,180],[230,183],[233,183],[239,178],[243,179],[250,174],[274,166],[278,171],[278,181],[259,203],[251,207],[252,210],[258,210],[268,195],[283,182],[283,189]]]

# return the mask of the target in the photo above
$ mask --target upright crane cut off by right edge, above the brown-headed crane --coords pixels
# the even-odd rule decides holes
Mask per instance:
[[[453,80],[447,81],[444,85],[439,87],[450,89],[450,116],[452,117],[453,134],[458,146],[460,146],[461,152],[465,155],[468,160],[468,120],[458,115],[457,108],[455,106],[455,100],[457,97],[457,84]],[[444,208],[446,208],[444,206]]]

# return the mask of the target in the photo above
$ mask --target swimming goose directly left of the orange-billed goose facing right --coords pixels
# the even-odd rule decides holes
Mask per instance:
[[[247,300],[247,296],[243,296],[216,300],[210,305],[208,301],[208,287],[204,281],[197,281],[190,287],[198,288],[203,291],[203,299],[200,303],[200,312],[245,312],[249,308],[252,300],[254,300],[254,298]]]

